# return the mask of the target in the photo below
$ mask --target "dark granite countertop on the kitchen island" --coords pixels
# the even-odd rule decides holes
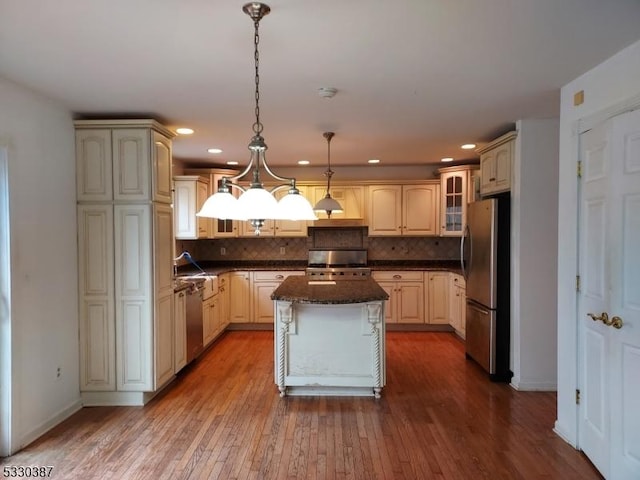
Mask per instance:
[[[388,298],[387,292],[371,277],[314,282],[304,276],[291,276],[285,278],[271,294],[272,300],[328,305],[373,302]]]

